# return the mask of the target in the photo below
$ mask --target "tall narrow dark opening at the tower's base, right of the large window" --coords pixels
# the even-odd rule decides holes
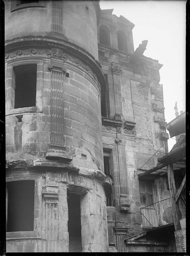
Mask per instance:
[[[69,252],[82,252],[80,196],[68,193]]]

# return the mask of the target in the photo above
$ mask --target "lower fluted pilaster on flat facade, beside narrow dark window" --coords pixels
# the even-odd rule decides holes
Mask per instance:
[[[119,181],[120,181],[120,206],[121,210],[128,210],[130,207],[128,199],[128,181],[127,181],[127,166],[125,157],[125,143],[120,139],[116,139],[118,148],[119,161]]]

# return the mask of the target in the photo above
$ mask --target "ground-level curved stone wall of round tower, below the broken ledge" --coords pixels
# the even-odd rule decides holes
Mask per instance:
[[[35,180],[34,231],[7,233],[7,252],[68,252],[67,190],[80,195],[82,251],[108,251],[104,189],[99,179],[82,175],[50,168],[7,173],[7,182]]]

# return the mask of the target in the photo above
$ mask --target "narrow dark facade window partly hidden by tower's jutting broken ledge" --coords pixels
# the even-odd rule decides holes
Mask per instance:
[[[112,169],[112,161],[111,161],[111,151],[108,151],[106,149],[103,150],[104,153],[104,173],[108,177],[110,177],[113,180],[113,177],[111,175],[111,169]],[[113,206],[113,193],[110,195],[107,195],[106,200],[107,206]]]

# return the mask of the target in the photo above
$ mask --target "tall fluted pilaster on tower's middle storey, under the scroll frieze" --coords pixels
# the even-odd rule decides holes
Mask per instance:
[[[57,2],[57,1],[56,1]],[[65,68],[49,65],[51,70],[51,147],[62,147],[63,136],[63,81]],[[64,148],[64,147],[63,147]]]

